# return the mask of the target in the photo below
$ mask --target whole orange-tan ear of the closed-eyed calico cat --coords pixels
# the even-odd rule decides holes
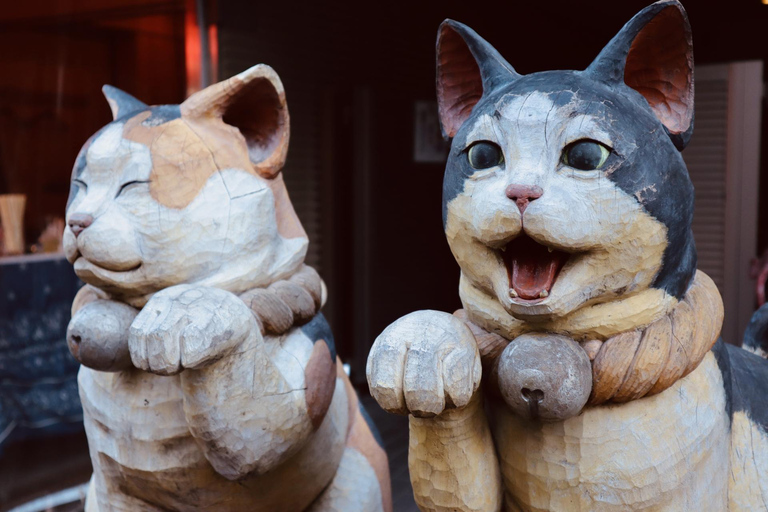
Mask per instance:
[[[280,77],[265,64],[196,92],[181,104],[181,113],[185,117],[220,117],[239,129],[260,176],[272,178],[285,164],[288,106]]]

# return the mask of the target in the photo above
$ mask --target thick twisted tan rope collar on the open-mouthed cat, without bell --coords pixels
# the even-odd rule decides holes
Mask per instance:
[[[464,310],[455,314],[475,334],[486,370],[509,340],[481,328]],[[580,342],[592,361],[592,394],[587,404],[629,402],[661,393],[699,366],[722,325],[720,292],[699,270],[683,300],[669,314],[605,341]]]

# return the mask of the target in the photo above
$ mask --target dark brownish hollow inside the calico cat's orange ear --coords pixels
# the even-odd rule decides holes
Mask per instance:
[[[243,134],[251,162],[257,167],[270,164],[270,157],[284,153],[280,145],[287,143],[285,100],[267,78],[256,78],[245,85],[227,105],[223,120]]]

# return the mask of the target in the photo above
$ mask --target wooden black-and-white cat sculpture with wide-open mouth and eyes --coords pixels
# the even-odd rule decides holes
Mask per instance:
[[[401,318],[368,359],[378,403],[411,414],[421,509],[766,510],[768,363],[715,343],[696,270],[680,3],[584,71],[525,76],[445,21],[437,93],[464,308]]]

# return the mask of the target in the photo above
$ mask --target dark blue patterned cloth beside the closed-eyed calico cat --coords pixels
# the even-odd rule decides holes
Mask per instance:
[[[63,256],[0,259],[0,450],[83,428],[79,364],[66,342],[80,286]]]

